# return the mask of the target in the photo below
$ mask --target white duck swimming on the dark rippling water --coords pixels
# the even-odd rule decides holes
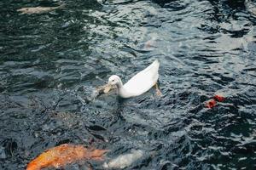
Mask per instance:
[[[113,75],[108,79],[108,87],[116,85],[118,94],[121,98],[131,98],[147,92],[156,85],[159,74],[159,61],[156,59],[143,71],[140,71],[134,77],[123,85],[120,77]]]

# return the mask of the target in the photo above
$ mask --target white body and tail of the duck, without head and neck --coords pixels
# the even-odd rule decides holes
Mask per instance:
[[[159,74],[159,61],[155,60],[151,65],[140,71],[125,83],[124,88],[127,92],[140,95],[147,92],[157,82]]]

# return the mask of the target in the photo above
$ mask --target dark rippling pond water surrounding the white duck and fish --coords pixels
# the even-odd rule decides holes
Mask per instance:
[[[64,2],[30,15],[16,10],[58,2],[0,2],[0,169],[64,143],[107,159],[144,150],[127,169],[256,168],[256,18],[244,1]],[[125,82],[154,59],[161,98],[90,100],[109,76]],[[207,109],[214,94],[226,100]]]

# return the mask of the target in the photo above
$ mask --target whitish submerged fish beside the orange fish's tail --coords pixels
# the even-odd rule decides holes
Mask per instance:
[[[131,166],[134,161],[143,157],[143,150],[131,150],[131,153],[118,156],[108,163],[105,162],[105,168],[125,168]]]

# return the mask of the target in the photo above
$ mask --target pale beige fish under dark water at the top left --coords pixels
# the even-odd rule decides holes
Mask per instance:
[[[61,4],[58,7],[28,7],[28,8],[19,8],[17,9],[18,12],[21,14],[42,14],[48,13],[49,11],[55,10],[57,8],[63,8],[65,4]]]

